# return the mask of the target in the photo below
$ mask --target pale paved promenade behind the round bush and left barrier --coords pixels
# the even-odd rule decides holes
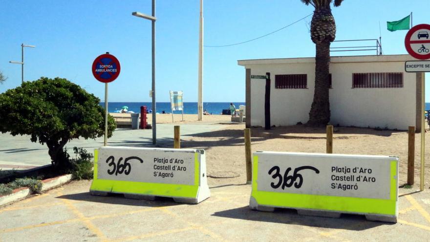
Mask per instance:
[[[179,124],[174,124],[179,125]],[[173,147],[173,124],[157,124],[157,146]],[[180,124],[181,135],[210,132],[219,130],[221,124]],[[0,170],[13,168],[29,169],[51,163],[46,145],[33,143],[28,135],[12,136],[9,133],[0,133]],[[117,129],[108,139],[109,146],[152,146],[152,130]],[[71,140],[66,147],[69,154],[73,154],[73,147],[83,147],[89,152],[103,146],[103,137],[93,139]]]

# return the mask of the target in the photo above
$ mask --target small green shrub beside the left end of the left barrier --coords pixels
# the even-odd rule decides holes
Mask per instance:
[[[94,167],[92,159],[94,156],[83,148],[74,147],[73,151],[75,158],[70,159],[72,178],[75,180],[92,179]]]

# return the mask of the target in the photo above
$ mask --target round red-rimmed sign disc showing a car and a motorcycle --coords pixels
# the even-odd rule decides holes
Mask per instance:
[[[416,59],[430,59],[430,24],[418,24],[409,29],[405,47],[409,55]]]

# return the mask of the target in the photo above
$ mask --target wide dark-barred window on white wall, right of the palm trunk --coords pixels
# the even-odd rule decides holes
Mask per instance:
[[[352,88],[403,88],[403,73],[353,73]]]

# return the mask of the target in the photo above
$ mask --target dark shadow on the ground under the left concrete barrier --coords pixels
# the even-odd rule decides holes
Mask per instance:
[[[139,206],[139,207],[163,207],[163,206],[175,206],[181,203],[176,203],[172,198],[162,198],[156,197],[155,200],[143,200],[143,199],[132,199],[124,198],[122,194],[111,194],[110,196],[93,196],[88,193],[77,193],[62,195],[56,198],[77,200],[77,201],[87,201],[87,202],[97,202],[97,203],[107,203],[107,204],[117,204],[117,205],[128,205],[128,206]]]

